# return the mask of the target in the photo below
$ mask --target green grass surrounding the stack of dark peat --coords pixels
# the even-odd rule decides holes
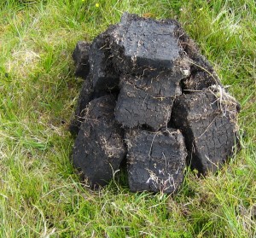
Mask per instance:
[[[189,171],[173,197],[132,194],[118,176],[92,192],[70,163],[74,46],[124,11],[179,20],[241,102],[241,152],[218,175]],[[1,1],[0,52],[0,237],[255,237],[253,0]]]

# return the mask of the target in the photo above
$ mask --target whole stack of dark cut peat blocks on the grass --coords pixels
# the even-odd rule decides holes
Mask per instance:
[[[131,191],[170,194],[186,165],[206,174],[233,154],[239,105],[176,20],[125,13],[73,60],[84,78],[73,164],[91,187],[125,161]]]

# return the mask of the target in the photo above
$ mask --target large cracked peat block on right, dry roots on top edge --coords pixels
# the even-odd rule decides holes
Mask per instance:
[[[236,101],[221,88],[179,96],[172,110],[172,125],[182,131],[192,168],[206,174],[217,171],[233,154],[236,140]]]

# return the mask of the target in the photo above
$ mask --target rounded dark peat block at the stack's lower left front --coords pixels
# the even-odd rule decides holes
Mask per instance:
[[[74,143],[73,163],[92,187],[107,184],[125,158],[123,131],[114,120],[114,106],[113,96],[91,101]]]

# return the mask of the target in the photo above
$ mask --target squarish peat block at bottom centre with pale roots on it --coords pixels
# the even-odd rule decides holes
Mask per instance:
[[[180,131],[131,130],[126,133],[125,142],[131,191],[171,194],[180,187],[187,156]]]

